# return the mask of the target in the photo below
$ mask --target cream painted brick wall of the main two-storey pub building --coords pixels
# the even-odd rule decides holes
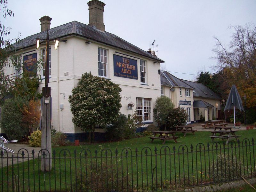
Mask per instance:
[[[86,44],[84,38],[70,36],[66,39],[67,42],[60,43],[57,50],[54,49],[53,45],[51,46],[51,78],[49,79],[49,87],[51,87],[52,95],[52,125],[55,126],[56,130],[66,133],[82,132],[72,123],[72,113],[70,111],[68,96],[72,94],[71,91],[76,87],[82,74],[91,71],[92,75],[98,76],[98,47],[108,51],[108,78],[112,82],[118,84],[122,89],[122,92],[120,93],[120,95],[122,95],[122,108],[120,112],[125,115],[132,114],[134,109],[136,109],[137,97],[150,98],[151,120],[154,122],[153,108],[155,106],[156,98],[160,97],[161,93],[160,75],[158,74],[158,69],[160,69],[159,63],[154,63],[153,60],[149,60],[140,55],[125,52],[97,42]],[[32,47],[26,49],[26,51],[22,51],[28,52],[36,50],[29,52],[26,55],[37,52],[37,59],[40,59],[40,50],[42,48],[44,48],[44,45],[40,46],[39,50]],[[115,52],[121,52],[130,56]],[[137,60],[137,80],[114,76],[113,54]],[[140,59],[146,61],[147,85],[140,84]],[[13,72],[13,68],[6,69],[7,74],[12,74]],[[64,75],[65,72],[68,72],[67,76]],[[42,92],[43,86],[44,79],[40,82],[38,92]],[[65,99],[63,94],[60,93],[65,94]],[[127,104],[130,101],[135,104],[133,110],[127,109]],[[60,109],[60,104],[63,104],[63,109]]]

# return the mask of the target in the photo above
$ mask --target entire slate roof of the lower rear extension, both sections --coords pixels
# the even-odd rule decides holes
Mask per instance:
[[[221,99],[219,95],[214,93],[205,85],[201,83],[184,80],[184,79],[179,79],[167,71],[161,72],[161,84],[165,86],[170,86],[170,87],[182,87],[186,89],[193,89],[193,97],[218,99],[218,100]]]

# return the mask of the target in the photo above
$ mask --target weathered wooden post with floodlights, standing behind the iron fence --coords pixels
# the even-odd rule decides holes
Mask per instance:
[[[51,87],[48,87],[49,83],[49,33],[47,29],[46,49],[45,49],[45,86],[43,87],[43,99],[42,99],[42,139],[41,149],[41,170],[52,170],[52,138],[51,138]]]

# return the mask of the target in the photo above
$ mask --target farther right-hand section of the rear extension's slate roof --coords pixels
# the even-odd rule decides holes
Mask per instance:
[[[210,99],[221,99],[219,95],[213,92],[211,89],[206,87],[201,83],[196,83],[192,81],[183,80],[190,86],[194,87],[193,97],[202,97],[202,98],[210,98]]]

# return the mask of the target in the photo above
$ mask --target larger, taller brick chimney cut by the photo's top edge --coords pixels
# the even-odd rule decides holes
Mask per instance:
[[[101,31],[105,31],[105,25],[103,23],[103,12],[105,4],[98,0],[92,0],[88,3],[89,10],[89,23],[90,26],[95,26]]]

